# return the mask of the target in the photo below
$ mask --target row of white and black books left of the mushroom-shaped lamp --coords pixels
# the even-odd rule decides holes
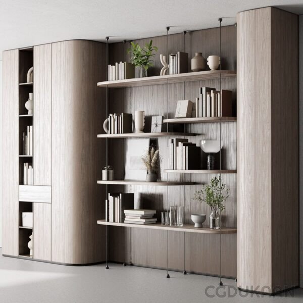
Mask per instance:
[[[169,142],[170,169],[198,170],[201,168],[201,149],[188,139],[173,138]]]

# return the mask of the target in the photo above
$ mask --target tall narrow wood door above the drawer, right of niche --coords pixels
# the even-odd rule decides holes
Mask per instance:
[[[52,44],[34,46],[34,185],[51,185]]]

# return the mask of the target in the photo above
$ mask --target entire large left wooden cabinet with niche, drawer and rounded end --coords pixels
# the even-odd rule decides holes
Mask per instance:
[[[104,44],[72,40],[3,54],[3,255],[64,264],[105,259],[96,134],[104,120]],[[33,77],[27,72],[33,67]],[[25,103],[33,95],[33,112]],[[23,133],[32,126],[32,150]],[[28,146],[27,146],[28,147]],[[101,159],[102,160],[102,159]],[[24,163],[33,177],[24,184]],[[22,213],[33,213],[33,227]],[[29,236],[33,254],[29,254]]]

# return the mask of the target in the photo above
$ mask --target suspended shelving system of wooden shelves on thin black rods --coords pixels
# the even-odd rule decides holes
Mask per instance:
[[[219,56],[221,57],[221,22],[222,19],[219,19],[220,22],[220,49],[219,49]],[[169,43],[168,41],[168,31],[169,28],[167,28],[167,45]],[[185,34],[184,32],[184,49],[185,49]],[[107,37],[107,66],[109,64],[109,56],[108,56],[108,37]],[[168,46],[167,46],[168,49]],[[168,55],[168,54],[167,54]],[[233,78],[236,77],[236,72],[232,70],[221,70],[221,65],[219,70],[215,71],[203,71],[203,72],[189,72],[189,73],[183,73],[183,74],[174,74],[174,75],[164,75],[164,76],[151,76],[151,77],[145,77],[145,78],[134,78],[134,79],[125,79],[125,80],[115,80],[115,81],[103,81],[98,82],[97,86],[99,87],[105,87],[107,90],[107,117],[109,116],[109,88],[127,88],[127,87],[137,87],[137,86],[148,86],[148,85],[160,85],[160,84],[166,84],[167,85],[167,104],[169,103],[168,93],[169,93],[169,84],[171,83],[178,83],[183,82],[184,83],[184,97],[185,97],[185,82],[188,81],[200,81],[200,80],[219,80],[220,82],[220,89],[221,90],[221,79],[223,78]],[[107,79],[108,79],[108,69],[107,69]],[[168,107],[167,107],[168,108]],[[167,112],[167,117],[169,113]],[[219,123],[220,128],[220,140],[221,138],[221,124],[225,122],[236,122],[236,117],[208,117],[208,118],[166,118],[164,119],[164,123],[167,125],[168,130],[168,124],[197,124],[197,123]],[[185,128],[184,128],[185,130]],[[183,133],[178,132],[163,132],[163,133],[130,133],[130,134],[98,134],[98,138],[106,138],[107,144],[106,144],[106,150],[107,150],[107,157],[106,157],[106,164],[108,165],[108,139],[114,139],[114,138],[143,138],[143,137],[149,137],[149,138],[155,138],[155,137],[167,137],[167,141],[169,139],[169,136],[193,136],[197,135],[195,133],[186,133],[185,131]],[[175,173],[175,174],[236,174],[236,170],[228,169],[224,170],[221,169],[221,150],[219,152],[220,154],[220,167],[217,170],[171,170],[171,169],[165,169],[164,173],[167,174],[167,180],[169,174]],[[107,190],[106,190],[106,196],[108,196],[108,185],[146,185],[146,186],[177,186],[177,185],[193,185],[194,182],[176,182],[176,181],[157,181],[157,182],[145,182],[145,181],[135,181],[135,180],[114,180],[114,181],[97,181],[98,184],[106,184]],[[167,193],[168,194],[168,193]],[[185,195],[184,195],[185,199]],[[167,197],[167,211],[169,211],[169,198]],[[220,213],[221,217],[221,213]],[[107,249],[107,259],[106,259],[106,269],[108,269],[108,243],[109,243],[109,232],[108,232],[108,226],[119,226],[119,227],[134,227],[134,228],[145,228],[145,229],[155,229],[155,230],[166,230],[167,231],[167,250],[168,250],[168,236],[169,231],[179,231],[184,232],[184,271],[183,274],[186,274],[185,270],[185,233],[205,233],[205,234],[218,234],[220,235],[220,243],[222,241],[221,235],[222,234],[235,234],[237,232],[236,228],[228,228],[228,227],[220,227],[220,229],[217,230],[211,230],[209,227],[203,227],[203,228],[195,228],[193,225],[184,225],[183,227],[179,226],[170,226],[170,225],[162,225],[161,223],[156,224],[148,224],[148,225],[136,225],[131,223],[116,223],[116,222],[106,222],[105,219],[97,220],[97,224],[99,225],[105,225],[106,226],[106,249]],[[221,220],[222,224],[222,220]],[[220,244],[220,250],[221,250],[221,244]],[[220,283],[222,284],[222,252],[220,251]],[[169,260],[169,253],[167,254],[167,278],[169,278],[169,268],[168,268],[168,260]],[[123,263],[125,265],[125,263]]]

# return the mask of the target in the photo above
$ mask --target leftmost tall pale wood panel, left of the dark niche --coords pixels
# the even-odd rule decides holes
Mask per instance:
[[[18,256],[19,50],[3,53],[2,254]]]

